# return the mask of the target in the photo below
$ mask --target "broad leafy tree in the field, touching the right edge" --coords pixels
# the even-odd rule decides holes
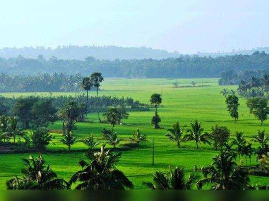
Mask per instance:
[[[263,125],[263,122],[267,120],[267,115],[269,113],[268,101],[265,98],[253,98],[249,99],[247,102],[247,107],[250,109],[250,113],[254,114]]]

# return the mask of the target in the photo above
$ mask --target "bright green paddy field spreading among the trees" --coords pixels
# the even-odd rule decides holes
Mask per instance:
[[[191,81],[196,82],[195,87],[191,86]],[[172,83],[177,82],[178,88],[172,88]],[[198,87],[198,86],[204,87]],[[236,90],[237,86],[227,86],[228,89]],[[140,144],[139,150],[134,148],[131,151],[124,151],[122,158],[118,163],[118,168],[122,170],[128,178],[134,183],[135,188],[145,188],[142,185],[144,181],[152,181],[152,174],[157,171],[167,172],[168,165],[172,168],[183,166],[186,176],[197,165],[198,168],[206,166],[212,162],[212,157],[219,154],[209,145],[199,144],[196,150],[194,141],[182,142],[180,148],[177,148],[176,142],[172,142],[165,137],[167,129],[171,128],[176,121],[181,126],[187,125],[185,131],[190,128],[190,123],[195,119],[201,121],[201,126],[205,132],[211,130],[211,126],[218,124],[227,126],[231,130],[231,137],[235,136],[235,131],[243,131],[247,140],[257,134],[257,130],[266,129],[268,131],[269,121],[264,125],[253,114],[249,114],[246,107],[246,100],[239,98],[239,119],[234,123],[227,111],[225,98],[220,94],[223,89],[218,86],[218,79],[106,79],[101,87],[100,96],[132,97],[134,100],[148,103],[153,93],[162,95],[163,107],[158,108],[158,114],[161,117],[159,126],[161,129],[153,129],[150,120],[154,115],[154,108],[150,111],[130,112],[128,119],[124,119],[123,125],[115,125],[118,137],[123,139],[120,144],[127,143],[128,137],[131,137],[136,128],[139,128],[142,134],[147,134],[149,142]],[[82,93],[82,92],[81,92]],[[18,97],[21,95],[48,95],[48,93],[2,93],[5,97]],[[76,93],[52,93],[57,95],[75,95]],[[96,92],[89,92],[90,96],[95,96]],[[102,115],[100,115],[102,116]],[[103,117],[102,117],[103,118]],[[93,133],[98,142],[103,142],[101,130],[103,128],[111,129],[111,125],[99,123],[97,113],[90,113],[87,119],[91,122],[76,123],[77,130],[73,133],[78,139],[86,138]],[[51,129],[62,129],[62,122],[57,121],[50,125]],[[72,150],[86,149],[82,142],[75,143],[71,147],[71,153],[67,152],[67,146],[60,142],[61,134],[53,134],[54,143],[48,146],[48,150],[66,150],[66,153],[44,154],[44,159],[51,164],[59,178],[69,180],[70,177],[79,170],[78,160],[84,158],[83,152]],[[151,142],[154,137],[155,146],[155,165],[151,165]],[[252,142],[254,147],[258,144]],[[101,144],[98,145],[100,147]],[[111,147],[107,144],[108,147]],[[20,169],[23,166],[21,158],[27,158],[30,153],[25,154],[2,154],[0,166],[0,189],[5,188],[5,181],[13,175],[20,175]],[[38,153],[34,153],[37,156]],[[238,161],[237,161],[238,162]],[[249,160],[248,160],[249,163]],[[252,164],[256,163],[255,157]],[[244,160],[243,160],[244,164]],[[252,184],[265,185],[269,183],[267,177],[251,176]]]

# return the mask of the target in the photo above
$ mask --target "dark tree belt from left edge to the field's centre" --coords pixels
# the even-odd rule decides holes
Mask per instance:
[[[84,110],[86,110],[87,97],[84,95],[78,96],[30,96],[30,97],[19,97],[19,98],[5,98],[0,96],[0,115],[18,116],[22,113],[27,113],[26,111],[31,110],[31,108],[36,104],[37,109],[41,109],[44,106],[44,110],[47,107],[53,107],[54,110],[64,107],[68,102],[75,101],[78,104],[85,104]],[[42,105],[37,104],[40,102]],[[46,105],[45,103],[49,104]],[[17,106],[22,106],[21,109],[16,109]],[[120,107],[125,108],[127,111],[147,111],[149,110],[149,105],[135,101],[132,98],[117,98],[117,97],[89,97],[88,100],[88,112],[105,112],[109,107]],[[24,118],[29,118],[25,116]]]

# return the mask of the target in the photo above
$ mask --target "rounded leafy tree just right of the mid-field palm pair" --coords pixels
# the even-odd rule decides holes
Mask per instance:
[[[215,148],[222,149],[228,142],[230,137],[230,130],[226,126],[212,126],[210,138],[213,140]]]

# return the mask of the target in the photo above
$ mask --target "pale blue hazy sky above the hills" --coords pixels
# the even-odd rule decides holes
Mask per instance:
[[[3,0],[0,48],[151,47],[182,54],[269,46],[269,0]]]

